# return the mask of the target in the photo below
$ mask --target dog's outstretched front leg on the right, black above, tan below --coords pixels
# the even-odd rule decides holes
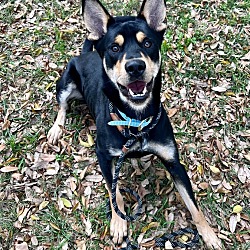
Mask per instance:
[[[218,239],[213,229],[208,225],[205,216],[196,204],[192,186],[184,166],[180,164],[179,161],[175,163],[164,162],[164,165],[170,172],[175,186],[190,211],[197,230],[207,247],[209,249],[222,249],[221,241]]]

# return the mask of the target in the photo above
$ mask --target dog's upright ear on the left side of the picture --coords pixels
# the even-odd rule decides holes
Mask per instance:
[[[82,9],[86,28],[90,32],[88,39],[100,39],[113,18],[99,0],[82,0]]]

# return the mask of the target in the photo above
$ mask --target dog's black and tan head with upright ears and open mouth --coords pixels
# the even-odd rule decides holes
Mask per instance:
[[[161,67],[164,0],[144,0],[137,17],[115,18],[99,0],[83,0],[83,13],[88,39],[94,41],[120,99],[143,110],[152,98]]]

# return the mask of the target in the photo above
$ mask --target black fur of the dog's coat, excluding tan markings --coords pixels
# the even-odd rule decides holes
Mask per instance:
[[[136,41],[135,34],[138,31],[145,33],[153,42],[153,46],[149,50],[146,51],[141,48],[141,45]],[[157,32],[149,28],[145,19],[141,17],[112,18],[112,21],[108,25],[107,34],[98,41],[86,40],[81,55],[70,60],[67,69],[57,83],[57,100],[59,104],[61,102],[62,92],[67,89],[69,84],[74,83],[96,121],[96,154],[108,186],[111,186],[112,183],[111,162],[114,158],[114,156],[110,154],[109,149],[121,149],[127,140],[116,127],[107,125],[111,120],[108,108],[109,103],[112,102],[115,107],[131,118],[143,120],[149,116],[156,116],[160,104],[161,67],[159,67],[159,72],[155,78],[152,90],[153,98],[145,109],[138,113],[138,111],[133,110],[119,98],[119,90],[111,82],[104,70],[103,58],[106,59],[108,67],[114,67],[115,63],[122,59],[125,52],[129,59],[140,57],[140,53],[144,53],[149,56],[152,61],[157,61],[159,59],[163,33],[164,31]],[[127,40],[122,50],[114,55],[110,52],[109,46],[117,34],[123,35]],[[92,51],[93,47],[96,51]],[[132,132],[136,133],[136,129],[132,129]],[[148,143],[151,141],[159,142],[161,145],[172,145],[172,150],[174,150],[173,159],[166,161],[160,155],[159,157],[162,159],[174,180],[181,182],[186,187],[190,198],[195,203],[189,178],[187,177],[184,167],[179,162],[173,130],[165,111],[162,113],[156,127],[149,132]],[[157,155],[157,152],[142,149],[140,145],[136,151],[129,152],[127,156],[141,157],[150,153]]]

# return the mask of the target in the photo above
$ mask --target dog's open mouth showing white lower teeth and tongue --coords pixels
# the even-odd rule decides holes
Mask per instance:
[[[134,81],[127,85],[127,87],[118,84],[123,95],[129,97],[133,101],[143,101],[149,95],[152,81],[146,83],[144,81]]]

